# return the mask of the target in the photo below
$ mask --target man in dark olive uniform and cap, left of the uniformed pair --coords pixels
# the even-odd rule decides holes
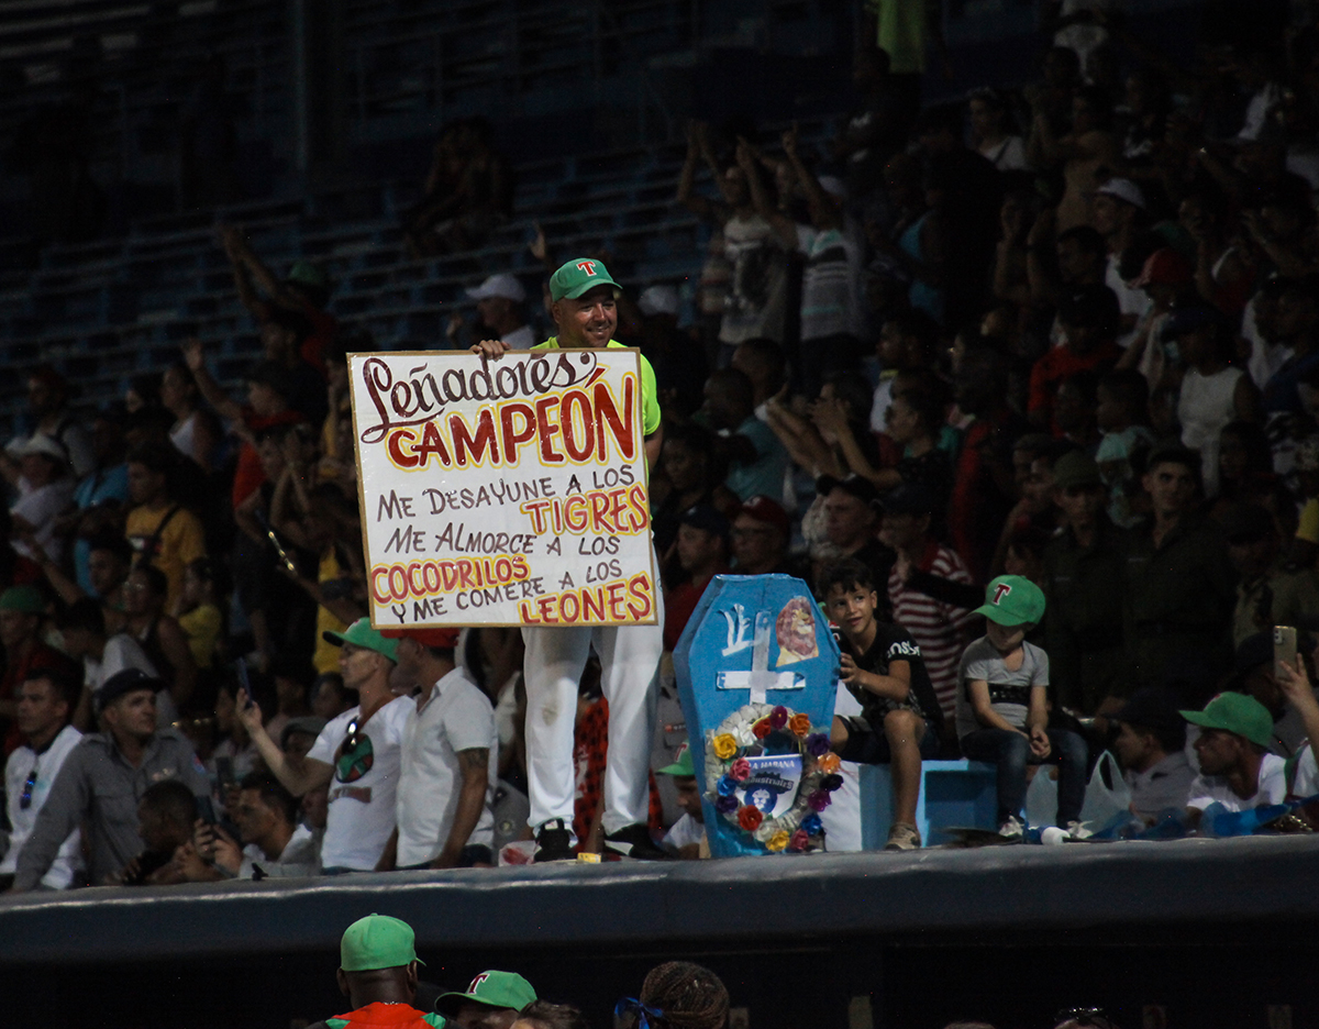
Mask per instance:
[[[1104,513],[1099,466],[1074,450],[1054,466],[1062,526],[1045,547],[1045,650],[1055,701],[1092,715],[1121,693],[1124,534]]]

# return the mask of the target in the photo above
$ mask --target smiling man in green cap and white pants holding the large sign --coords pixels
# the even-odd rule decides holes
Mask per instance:
[[[621,348],[613,340],[619,323],[619,284],[603,263],[567,261],[550,278],[550,313],[558,335],[533,347],[545,350]],[[483,339],[472,347],[481,360],[499,360],[509,346]],[[660,400],[650,363],[640,356],[642,430],[646,463],[654,467],[663,434]],[[536,860],[572,860],[572,801],[576,782],[572,730],[578,682],[595,646],[604,697],[609,702],[609,752],[604,777],[605,847],[625,858],[665,859],[646,828],[649,815],[650,743],[658,701],[660,654],[663,650],[663,607],[654,591],[654,625],[576,625],[522,628],[526,642],[526,770],[536,830]]]

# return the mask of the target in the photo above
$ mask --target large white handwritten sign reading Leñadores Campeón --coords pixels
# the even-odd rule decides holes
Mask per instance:
[[[371,623],[656,621],[634,350],[348,358]]]

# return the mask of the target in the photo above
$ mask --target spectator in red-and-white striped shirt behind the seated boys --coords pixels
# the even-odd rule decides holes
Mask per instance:
[[[971,573],[962,558],[930,533],[933,517],[933,497],[927,489],[900,485],[884,497],[880,540],[900,555],[900,561],[917,571],[969,583]],[[952,714],[958,693],[958,660],[967,645],[971,612],[914,590],[898,573],[897,565],[882,582],[888,583],[892,620],[911,633],[921,648],[921,658],[940,708],[944,714]]]

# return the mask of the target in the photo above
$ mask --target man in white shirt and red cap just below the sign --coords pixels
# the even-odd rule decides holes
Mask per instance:
[[[495,710],[454,661],[458,629],[386,629],[398,671],[421,691],[404,727],[398,827],[380,868],[495,863],[491,803],[499,778]]]

